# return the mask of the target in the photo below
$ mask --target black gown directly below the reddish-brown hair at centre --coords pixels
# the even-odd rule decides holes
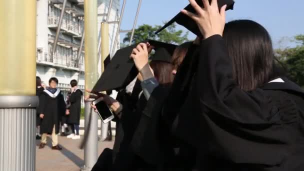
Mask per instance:
[[[140,120],[131,140],[132,152],[141,163],[139,170],[170,170],[174,162],[169,129],[161,122],[161,104],[170,86],[156,87],[141,110]],[[157,97],[157,98],[154,98]]]

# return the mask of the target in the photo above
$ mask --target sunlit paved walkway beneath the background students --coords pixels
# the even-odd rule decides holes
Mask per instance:
[[[83,136],[81,136],[83,138]],[[36,146],[36,171],[78,171],[84,164],[83,149],[79,149],[80,139],[58,137],[62,150],[51,149],[51,139],[47,138],[47,145],[43,149]],[[36,140],[36,144],[39,141]],[[98,156],[106,147],[112,148],[113,141],[98,141]]]

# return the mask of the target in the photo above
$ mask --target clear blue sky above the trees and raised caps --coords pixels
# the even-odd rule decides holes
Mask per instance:
[[[120,0],[120,5],[122,5]],[[136,13],[138,0],[126,0],[121,29],[130,29]],[[168,21],[188,0],[142,0],[137,20],[141,24],[162,24]],[[293,46],[288,39],[304,34],[304,0],[235,0],[234,9],[226,14],[226,21],[252,19],[262,24],[270,33],[274,47]],[[179,26],[178,29],[184,29]],[[124,34],[120,34],[122,37]],[[189,39],[195,35],[189,32]],[[281,43],[279,40],[283,39]]]

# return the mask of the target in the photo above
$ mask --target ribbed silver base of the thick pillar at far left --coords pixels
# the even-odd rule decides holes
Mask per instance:
[[[37,104],[36,96],[0,96],[0,170],[35,170]]]

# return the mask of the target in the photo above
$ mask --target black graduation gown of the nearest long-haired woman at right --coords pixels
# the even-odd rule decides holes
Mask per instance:
[[[175,163],[168,167],[177,166],[180,170],[304,170],[304,95],[301,89],[285,79],[284,83],[276,83],[283,84],[280,88],[267,83],[250,92],[242,91],[232,79],[231,61],[218,35],[202,42],[197,61],[193,79],[187,80],[191,82],[190,87],[185,88],[188,94],[184,93],[185,100],[176,105],[177,117],[174,113],[162,113],[162,121],[171,127],[176,142],[169,145],[179,147]],[[154,91],[151,97],[161,99]],[[168,101],[161,111],[174,111],[172,105],[166,103]],[[146,129],[157,132],[153,126]],[[142,149],[158,149],[149,153],[139,150],[138,155],[145,161],[166,160],[166,154],[158,152],[166,143],[161,139],[162,132],[158,133],[154,136],[160,140],[149,143],[146,139],[151,137],[146,137],[141,142],[146,144]]]

